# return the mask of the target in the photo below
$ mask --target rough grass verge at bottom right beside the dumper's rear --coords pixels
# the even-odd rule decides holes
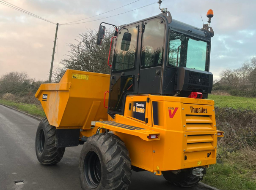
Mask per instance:
[[[220,190],[256,190],[256,163],[248,161],[248,157],[245,158],[250,151],[252,150],[239,150],[218,159],[217,164],[207,169],[202,182]]]

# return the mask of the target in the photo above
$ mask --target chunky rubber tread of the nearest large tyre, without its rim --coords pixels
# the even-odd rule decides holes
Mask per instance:
[[[94,135],[89,137],[87,142],[83,145],[81,155],[83,155],[83,150],[92,144],[99,147],[103,158],[105,158],[106,171],[104,190],[128,190],[128,186],[131,183],[130,177],[132,169],[129,151],[124,142],[118,136],[110,133]],[[80,168],[81,166],[83,167],[83,160],[81,160],[81,158],[82,156],[80,156]],[[91,188],[87,186],[83,175],[83,169],[80,169],[81,187],[83,190],[89,190]],[[96,189],[98,189],[98,187]]]

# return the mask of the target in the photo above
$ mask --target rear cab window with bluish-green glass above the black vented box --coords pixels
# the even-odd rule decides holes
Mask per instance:
[[[209,43],[178,32],[170,32],[168,66],[209,71]]]

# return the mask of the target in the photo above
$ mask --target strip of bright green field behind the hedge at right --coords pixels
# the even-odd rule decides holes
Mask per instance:
[[[256,98],[209,94],[208,99],[215,101],[215,107],[248,108],[256,110]]]

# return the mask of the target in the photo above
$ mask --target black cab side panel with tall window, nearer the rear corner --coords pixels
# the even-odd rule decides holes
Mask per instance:
[[[165,31],[160,17],[143,22],[139,94],[161,93]]]

